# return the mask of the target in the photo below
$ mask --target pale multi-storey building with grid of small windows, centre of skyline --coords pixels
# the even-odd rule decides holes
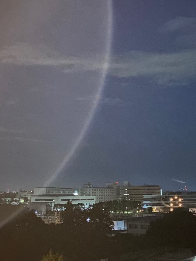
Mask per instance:
[[[115,188],[93,187],[90,182],[84,184],[79,191],[80,196],[96,197],[96,202],[116,200]]]

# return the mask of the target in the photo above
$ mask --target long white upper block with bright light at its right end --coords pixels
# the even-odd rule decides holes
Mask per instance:
[[[33,194],[35,195],[59,194],[59,195],[78,196],[78,191],[79,191],[78,189],[72,189],[72,188],[40,187],[40,188],[34,188]]]

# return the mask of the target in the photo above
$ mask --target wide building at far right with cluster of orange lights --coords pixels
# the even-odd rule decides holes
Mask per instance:
[[[166,191],[162,195],[144,195],[143,208],[152,207],[156,211],[168,212],[175,208],[196,207],[195,191]]]

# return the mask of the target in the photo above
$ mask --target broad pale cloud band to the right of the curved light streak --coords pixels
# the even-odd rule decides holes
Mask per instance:
[[[151,77],[160,85],[182,85],[195,79],[196,50],[173,53],[133,51],[113,57],[111,75],[117,77]]]

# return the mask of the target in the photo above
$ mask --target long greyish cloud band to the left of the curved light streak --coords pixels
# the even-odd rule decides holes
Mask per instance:
[[[0,50],[0,63],[26,66],[59,66],[65,73],[104,69],[107,66],[105,55],[93,58],[67,56],[48,46],[19,42],[12,46],[4,46]]]

